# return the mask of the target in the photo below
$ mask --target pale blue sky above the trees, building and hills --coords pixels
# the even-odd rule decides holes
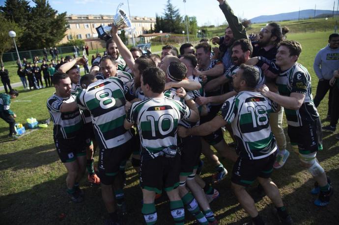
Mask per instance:
[[[2,5],[4,0],[0,0]],[[104,14],[113,15],[117,5],[123,2],[122,8],[128,12],[127,0],[49,0],[51,6],[58,12],[67,14]],[[163,14],[167,0],[129,0],[132,16],[155,17]],[[171,0],[179,8],[181,15],[185,14],[183,0]],[[261,15],[298,11],[303,9],[333,9],[334,0],[228,0],[235,15],[251,19]],[[256,2],[255,4],[253,2]],[[337,10],[337,3],[335,9]],[[32,3],[33,4],[33,3]],[[186,0],[186,13],[196,16],[198,25],[221,25],[225,17],[218,7],[217,0]]]

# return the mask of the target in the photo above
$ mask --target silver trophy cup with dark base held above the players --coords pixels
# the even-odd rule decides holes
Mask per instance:
[[[116,9],[116,14],[113,18],[113,25],[116,26],[119,29],[126,29],[126,28],[130,28],[132,27],[132,23],[131,20],[128,18],[128,16],[126,15],[126,13],[121,9],[121,6],[123,5],[123,3],[120,3]],[[98,26],[95,28],[97,33],[98,33],[98,37],[100,39],[103,40],[108,40],[111,38],[111,30],[112,27],[111,26]]]

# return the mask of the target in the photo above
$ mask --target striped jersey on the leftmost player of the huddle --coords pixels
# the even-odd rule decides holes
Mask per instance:
[[[63,99],[55,94],[47,100],[47,108],[54,123],[53,135],[56,139],[74,138],[79,135],[83,128],[83,120],[79,109],[73,112],[60,112],[63,103],[73,101],[75,101],[75,98],[72,95]]]

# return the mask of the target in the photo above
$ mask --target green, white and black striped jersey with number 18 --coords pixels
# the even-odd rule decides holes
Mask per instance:
[[[242,91],[225,101],[222,116],[232,126],[239,156],[260,159],[277,150],[268,121],[271,110],[271,101],[259,92]]]

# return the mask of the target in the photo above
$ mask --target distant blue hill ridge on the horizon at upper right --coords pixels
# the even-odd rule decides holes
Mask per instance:
[[[332,15],[332,10],[315,10],[315,16],[321,14]],[[334,12],[337,15],[338,11]],[[300,10],[300,19],[309,19],[314,17],[314,9]],[[252,23],[265,23],[269,21],[296,20],[299,18],[299,11],[280,13],[275,15],[263,15],[251,19]]]

